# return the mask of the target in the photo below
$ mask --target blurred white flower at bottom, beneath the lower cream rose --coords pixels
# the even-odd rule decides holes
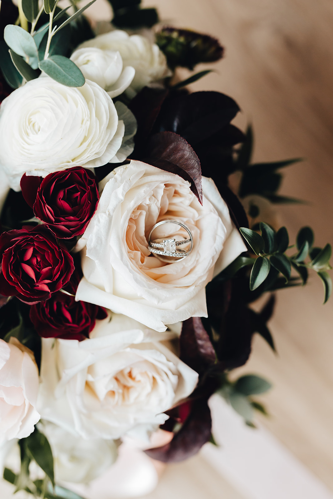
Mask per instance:
[[[82,439],[43,421],[38,428],[50,443],[56,482],[86,484],[102,475],[117,459],[113,440]]]

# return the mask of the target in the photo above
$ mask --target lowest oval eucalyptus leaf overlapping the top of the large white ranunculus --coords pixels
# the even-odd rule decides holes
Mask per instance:
[[[79,68],[63,55],[51,55],[47,59],[41,60],[39,69],[67,87],[81,87],[85,82]]]

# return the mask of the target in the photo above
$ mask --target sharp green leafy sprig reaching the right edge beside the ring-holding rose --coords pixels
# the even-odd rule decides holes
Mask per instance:
[[[332,293],[332,279],[327,272],[332,268],[330,265],[332,247],[330,244],[324,248],[313,247],[314,233],[310,227],[304,227],[300,230],[296,242],[297,252],[291,256],[287,255],[286,251],[294,248],[295,245],[289,246],[289,235],[285,227],[275,232],[269,225],[260,222],[261,235],[246,227],[242,227],[240,231],[257,258],[253,260],[241,256],[229,266],[227,272],[237,271],[245,265],[252,265],[250,289],[253,291],[269,278],[272,267],[286,279],[285,286],[281,287],[298,285],[299,279],[301,279],[302,284],[306,284],[308,269],[312,269],[318,273],[323,281],[324,303],[327,302]],[[305,260],[308,256],[310,261],[306,263]],[[292,267],[297,271],[299,277],[291,277]]]

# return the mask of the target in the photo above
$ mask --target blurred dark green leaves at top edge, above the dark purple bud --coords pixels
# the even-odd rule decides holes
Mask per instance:
[[[159,21],[156,8],[141,8],[141,0],[109,0],[113,10],[112,24],[118,28],[151,28]]]

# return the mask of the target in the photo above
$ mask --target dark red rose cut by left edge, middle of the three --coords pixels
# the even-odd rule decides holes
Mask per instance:
[[[70,279],[73,258],[59,248],[44,226],[25,227],[0,236],[0,293],[26,303],[50,298]]]

